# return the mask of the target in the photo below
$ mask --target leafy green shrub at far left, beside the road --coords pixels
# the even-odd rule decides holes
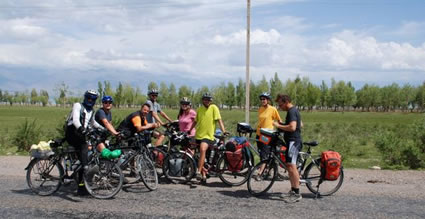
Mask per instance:
[[[18,147],[18,151],[28,151],[32,144],[39,142],[41,137],[41,128],[36,124],[36,119],[21,123],[16,135],[13,137],[13,143]]]

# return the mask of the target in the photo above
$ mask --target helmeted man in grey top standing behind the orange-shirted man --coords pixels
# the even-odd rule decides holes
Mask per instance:
[[[150,106],[150,111],[147,116],[147,120],[149,123],[158,123],[159,125],[164,125],[164,123],[159,118],[158,114],[160,114],[162,117],[164,117],[169,122],[172,122],[170,117],[165,114],[164,111],[161,111],[161,105],[159,105],[157,98],[158,98],[158,91],[156,89],[151,89],[148,92],[149,100],[146,101],[147,104]],[[159,127],[159,126],[157,126]],[[157,130],[153,130],[152,132],[153,137],[156,138],[155,146],[159,146],[162,144],[162,142],[165,139],[165,135]]]

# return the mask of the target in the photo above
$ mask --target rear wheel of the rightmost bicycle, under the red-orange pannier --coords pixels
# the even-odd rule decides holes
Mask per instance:
[[[337,180],[323,180],[319,185],[319,180],[321,178],[320,171],[320,158],[316,160],[316,165],[314,162],[311,162],[304,171],[303,179],[307,182],[306,186],[313,194],[316,194],[319,191],[321,196],[332,195],[341,187],[342,182],[344,181],[344,169],[341,167],[340,175]]]

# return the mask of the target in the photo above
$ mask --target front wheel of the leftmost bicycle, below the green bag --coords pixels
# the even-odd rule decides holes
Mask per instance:
[[[97,199],[110,199],[121,191],[124,174],[118,164],[100,159],[98,164],[93,163],[89,168],[97,168],[90,175],[84,175],[84,184],[87,191]]]

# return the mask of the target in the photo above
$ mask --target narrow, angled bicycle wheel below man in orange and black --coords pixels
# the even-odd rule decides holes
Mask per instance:
[[[155,165],[146,154],[136,156],[136,169],[142,178],[146,188],[153,191],[158,187],[158,175],[155,170]]]

